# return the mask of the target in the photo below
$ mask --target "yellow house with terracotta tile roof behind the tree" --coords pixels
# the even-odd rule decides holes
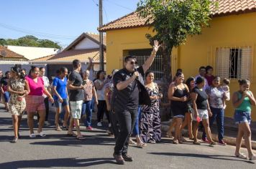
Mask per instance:
[[[185,77],[196,76],[198,68],[211,65],[214,74],[231,79],[231,94],[239,89],[237,79],[251,80],[256,95],[256,2],[218,0],[219,9],[213,11],[211,26],[201,35],[188,37],[186,44],[173,49],[171,69],[183,69]],[[136,49],[151,49],[145,34],[152,34],[145,19],[136,12],[111,21],[99,28],[106,32],[106,70],[123,67],[122,57]],[[252,120],[256,120],[255,108]],[[233,116],[231,102],[225,114]]]

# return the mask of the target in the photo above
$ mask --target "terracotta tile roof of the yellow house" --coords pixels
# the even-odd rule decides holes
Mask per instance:
[[[218,9],[211,6],[211,14],[213,16],[225,16],[229,14],[239,14],[242,12],[256,11],[256,0],[212,0],[218,2]],[[119,19],[109,22],[99,28],[99,31],[106,32],[114,29],[129,29],[140,26],[148,26],[145,24],[147,19],[137,16],[134,11]]]

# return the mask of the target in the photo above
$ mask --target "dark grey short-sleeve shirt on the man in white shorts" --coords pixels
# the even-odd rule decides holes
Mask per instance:
[[[73,70],[71,74],[69,75],[68,78],[69,81],[73,82],[73,86],[80,87],[81,84],[83,84],[83,79],[81,77],[81,74]],[[83,100],[83,90],[70,90],[70,101],[71,102],[76,102],[76,101],[81,101]]]

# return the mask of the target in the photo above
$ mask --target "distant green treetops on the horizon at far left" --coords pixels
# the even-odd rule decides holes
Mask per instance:
[[[32,35],[20,37],[18,39],[0,39],[0,45],[14,45],[22,47],[52,47],[60,49],[58,42],[52,42],[48,39],[38,39]]]

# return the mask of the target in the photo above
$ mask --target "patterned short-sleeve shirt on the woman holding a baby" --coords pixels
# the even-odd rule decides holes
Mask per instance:
[[[223,97],[224,90],[221,87],[207,87],[206,93],[209,95],[209,105],[211,107],[222,109],[223,108]]]

